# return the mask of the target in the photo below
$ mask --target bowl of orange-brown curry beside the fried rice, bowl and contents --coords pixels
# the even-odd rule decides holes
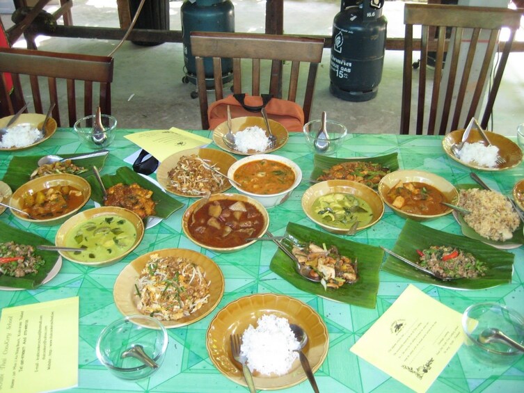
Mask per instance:
[[[400,184],[411,183],[411,197],[402,196],[401,203],[397,200],[399,193],[391,192],[400,189]],[[397,186],[397,187],[395,187]],[[412,187],[413,186],[413,187]],[[402,189],[406,189],[402,186]],[[450,214],[453,210],[440,202],[458,204],[459,192],[443,177],[422,170],[395,170],[388,173],[379,183],[379,195],[383,201],[401,217],[425,221]],[[390,195],[388,195],[390,194]],[[393,195],[395,194],[395,195]],[[402,202],[405,204],[402,205]],[[427,213],[426,213],[427,212]]]

